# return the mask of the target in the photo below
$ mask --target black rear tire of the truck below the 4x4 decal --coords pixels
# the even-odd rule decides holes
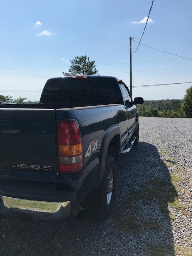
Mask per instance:
[[[112,173],[112,176],[111,176],[111,173]],[[112,183],[110,182],[109,186],[108,186],[108,178],[110,178],[110,181],[112,181]],[[109,187],[112,187],[112,192],[110,192],[111,194],[109,193],[109,191],[111,191]],[[115,199],[115,189],[116,189],[115,161],[112,156],[107,156],[105,173],[100,186],[95,188],[85,198],[85,208],[87,212],[96,219],[106,219],[113,208],[113,203]]]

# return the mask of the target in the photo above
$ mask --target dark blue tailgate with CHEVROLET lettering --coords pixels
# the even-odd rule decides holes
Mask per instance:
[[[0,108],[0,172],[57,172],[55,110]]]

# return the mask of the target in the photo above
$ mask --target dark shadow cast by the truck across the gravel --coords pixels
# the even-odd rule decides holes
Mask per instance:
[[[174,255],[168,205],[178,195],[157,148],[139,142],[116,168],[116,202],[107,220],[0,220],[7,240],[0,239],[0,255],[2,246],[7,255]]]

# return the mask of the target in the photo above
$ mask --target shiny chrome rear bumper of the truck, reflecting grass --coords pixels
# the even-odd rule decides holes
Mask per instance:
[[[71,213],[71,202],[45,202],[1,196],[4,210],[25,213],[34,220],[60,220]]]

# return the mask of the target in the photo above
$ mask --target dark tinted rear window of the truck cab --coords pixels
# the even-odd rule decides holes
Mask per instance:
[[[81,104],[84,106],[121,103],[115,79],[72,78],[52,80],[45,86],[41,103]]]

